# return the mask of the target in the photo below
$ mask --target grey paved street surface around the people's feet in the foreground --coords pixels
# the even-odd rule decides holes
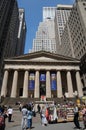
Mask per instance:
[[[13,114],[13,122],[8,123],[6,119],[6,130],[21,130],[21,112],[16,111]],[[81,127],[83,128],[83,123],[80,122]],[[48,126],[42,126],[40,123],[40,117],[37,114],[36,117],[33,118],[33,128],[32,130],[74,130],[74,123],[57,123],[57,124],[49,124]]]

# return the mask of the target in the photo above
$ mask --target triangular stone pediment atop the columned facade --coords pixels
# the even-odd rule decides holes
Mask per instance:
[[[28,62],[77,62],[79,60],[66,57],[63,55],[58,55],[50,52],[45,51],[38,51],[34,53],[24,54],[18,57],[13,57],[10,59],[6,59],[10,61],[28,61]]]

